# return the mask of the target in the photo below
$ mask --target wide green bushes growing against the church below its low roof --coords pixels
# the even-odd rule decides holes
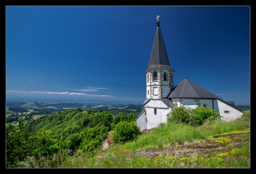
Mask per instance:
[[[196,109],[184,106],[176,107],[167,114],[167,122],[184,122],[190,125],[202,125],[207,119],[214,120],[219,116],[211,107],[200,106]]]

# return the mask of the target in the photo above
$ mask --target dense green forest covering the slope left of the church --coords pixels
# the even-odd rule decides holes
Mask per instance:
[[[113,130],[120,121],[126,121],[128,132],[138,133],[135,129],[134,118],[137,114],[113,113],[107,111],[80,108],[59,111],[51,115],[44,114],[37,120],[22,122],[14,126],[9,123],[6,127],[6,165],[17,167],[28,159],[37,161],[45,159],[52,161],[56,154],[64,150],[92,152],[100,148],[108,138],[108,132]],[[16,129],[18,127],[18,129]],[[136,131],[131,131],[130,127]],[[118,127],[117,127],[118,128]],[[118,129],[117,129],[118,130]],[[130,140],[123,138],[122,141]],[[49,162],[49,167],[56,163]]]

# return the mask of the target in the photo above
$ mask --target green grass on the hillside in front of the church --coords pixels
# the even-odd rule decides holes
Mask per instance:
[[[208,126],[208,127],[207,127]],[[182,144],[185,141],[195,140],[207,141],[215,135],[228,133],[247,133],[250,124],[244,118],[230,122],[207,121],[204,125],[197,127],[188,126],[182,123],[162,124],[149,133],[142,133],[136,141],[114,144],[106,151],[94,152],[94,155],[82,154],[70,157],[63,161],[61,168],[250,168],[250,136],[244,135],[242,147],[234,149],[228,146],[228,152],[215,154],[215,156],[198,157],[192,154],[189,157],[161,155],[156,159],[133,157],[125,158],[120,155],[135,152],[139,149],[152,147],[168,147],[174,144]],[[219,138],[221,139],[221,138]],[[223,141],[229,142],[228,138]],[[177,152],[178,154],[178,152]]]

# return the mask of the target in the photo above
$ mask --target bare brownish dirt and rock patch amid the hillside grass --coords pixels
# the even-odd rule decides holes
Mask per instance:
[[[167,144],[163,147],[154,147],[154,148],[145,148],[138,150],[136,152],[112,155],[110,158],[115,158],[117,156],[125,156],[126,158],[132,157],[146,157],[146,158],[156,158],[160,155],[168,155],[175,157],[190,157],[192,155],[197,155],[197,157],[212,157],[216,156],[219,153],[229,152],[233,148],[241,148],[241,144],[244,143],[244,136],[249,136],[249,133],[246,134],[226,134],[215,136],[219,140],[227,138],[223,142],[216,142],[216,139],[210,141],[196,141],[196,142],[184,142],[183,144]],[[221,138],[223,137],[223,138]]]

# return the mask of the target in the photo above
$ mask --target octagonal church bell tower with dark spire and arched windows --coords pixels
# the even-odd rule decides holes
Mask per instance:
[[[150,61],[146,72],[146,98],[161,99],[167,97],[173,85],[173,68],[170,67],[169,59],[160,30],[160,22],[157,16],[157,29]]]

